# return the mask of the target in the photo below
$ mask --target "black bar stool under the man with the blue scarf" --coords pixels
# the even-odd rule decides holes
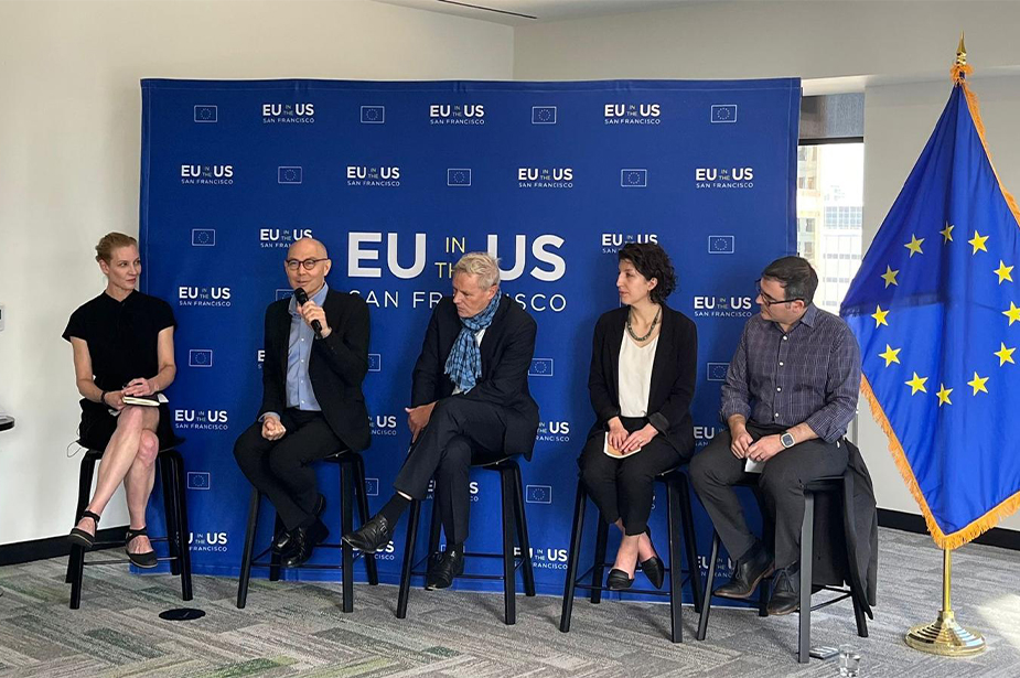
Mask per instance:
[[[532,571],[532,549],[528,541],[528,524],[524,513],[524,489],[520,482],[520,466],[513,456],[479,464],[477,469],[496,471],[500,473],[500,484],[503,497],[503,551],[501,553],[472,553],[464,556],[473,558],[500,558],[503,560],[503,574],[461,574],[462,579],[488,579],[503,581],[503,621],[507,625],[517,622],[517,568],[520,568],[524,580],[525,595],[535,595],[535,574]],[[418,519],[421,515],[421,502],[411,502],[407,521],[407,545],[404,549],[404,566],[400,571],[400,593],[397,596],[397,618],[407,617],[407,601],[410,598],[411,575],[427,574],[426,570],[418,570],[427,562],[432,553],[439,550],[439,532],[441,529],[439,512],[432,508],[431,525],[429,528],[429,551],[425,558],[415,561],[415,541],[418,537]],[[520,555],[514,552],[514,535]]]

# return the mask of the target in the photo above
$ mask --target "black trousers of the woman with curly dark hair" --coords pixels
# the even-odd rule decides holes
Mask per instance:
[[[643,418],[621,418],[627,432],[643,428]],[[641,452],[624,459],[613,459],[602,451],[605,435],[597,433],[584,443],[578,459],[581,480],[591,501],[610,524],[623,519],[627,536],[641,535],[648,527],[655,476],[678,466],[684,455],[662,435],[656,435]]]

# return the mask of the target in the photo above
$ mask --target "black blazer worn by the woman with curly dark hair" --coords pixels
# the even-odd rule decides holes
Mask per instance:
[[[588,438],[609,430],[609,420],[620,416],[620,343],[629,312],[630,306],[621,306],[603,313],[595,323],[588,373],[595,423]],[[648,422],[684,456],[694,451],[690,401],[697,375],[698,330],[689,318],[663,304],[658,346],[652,364]]]

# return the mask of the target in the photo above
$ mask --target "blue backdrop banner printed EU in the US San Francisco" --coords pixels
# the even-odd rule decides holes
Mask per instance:
[[[796,250],[799,97],[793,78],[143,80],[143,289],[170,302],[179,322],[168,395],[187,439],[195,572],[239,571],[250,486],[234,440],[261,400],[262,319],[290,294],[287,248],[315,237],[333,260],[330,286],[364,297],[372,314],[364,390],[373,444],[364,455],[373,512],[407,451],[411,366],[431,306],[450,292],[452,263],[474,250],[501,258],[503,291],[538,322],[530,387],[541,426],[523,473],[537,586],[561,593],[576,460],[594,419],[592,330],[619,303],[615,252],[652,240],[673,257],[679,286],[669,304],[698,324],[692,413],[704,445],[719,430],[727,363],[756,311],[752,281]],[[336,541],[336,470],[322,466]],[[472,550],[501,546],[495,476],[472,475]],[[268,545],[264,515],[259,544]],[[711,527],[699,506],[696,519],[707,547]],[[399,577],[405,523],[378,556],[383,581]],[[663,501],[652,525],[665,556]],[[323,549],[314,561],[336,558]],[[359,563],[356,574],[364,579]],[[719,577],[729,574],[723,559]]]

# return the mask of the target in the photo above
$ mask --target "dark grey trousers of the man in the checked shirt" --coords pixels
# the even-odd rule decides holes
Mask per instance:
[[[748,423],[758,440],[785,429]],[[739,560],[752,546],[743,509],[732,485],[744,476],[744,460],[730,450],[730,432],[722,431],[690,462],[690,482],[705,505],[716,531],[733,559]],[[783,450],[767,462],[758,478],[765,505],[775,520],[775,567],[785,568],[801,559],[801,523],[804,520],[804,485],[826,475],[841,475],[847,469],[847,446],[815,439]],[[769,516],[762,516],[769,519]]]

